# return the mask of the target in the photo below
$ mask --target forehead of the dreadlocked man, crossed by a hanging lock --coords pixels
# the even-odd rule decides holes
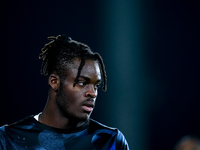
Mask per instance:
[[[72,76],[76,77],[80,63],[81,59],[75,58],[72,63],[72,68],[68,70],[68,75],[71,74]],[[98,61],[86,59],[85,64],[81,70],[80,76],[96,78],[96,80],[101,80],[101,71]]]

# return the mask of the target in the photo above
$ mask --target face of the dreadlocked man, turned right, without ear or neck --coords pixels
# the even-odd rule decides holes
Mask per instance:
[[[86,59],[78,82],[73,87],[81,60],[75,59],[73,62],[72,69],[67,70],[67,76],[60,85],[56,102],[63,116],[84,121],[89,119],[94,109],[101,72],[97,61]]]

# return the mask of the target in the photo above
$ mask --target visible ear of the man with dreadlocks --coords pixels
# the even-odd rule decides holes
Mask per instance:
[[[60,77],[57,74],[50,74],[48,82],[54,91],[57,91],[60,87]]]

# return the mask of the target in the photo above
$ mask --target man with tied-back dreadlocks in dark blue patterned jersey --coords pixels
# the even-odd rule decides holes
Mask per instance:
[[[128,150],[123,134],[90,119],[106,72],[98,53],[65,35],[42,48],[41,73],[50,86],[44,110],[0,128],[5,150]]]

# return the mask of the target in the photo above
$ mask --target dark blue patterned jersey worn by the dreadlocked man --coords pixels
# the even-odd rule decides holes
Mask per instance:
[[[123,134],[92,119],[74,130],[44,125],[29,116],[0,127],[0,150],[129,150]]]

